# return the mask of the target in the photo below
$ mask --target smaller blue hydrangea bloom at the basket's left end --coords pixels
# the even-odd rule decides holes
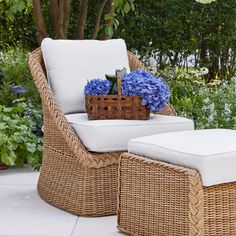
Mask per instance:
[[[93,79],[89,81],[84,87],[85,96],[98,96],[108,94],[111,88],[109,80]]]

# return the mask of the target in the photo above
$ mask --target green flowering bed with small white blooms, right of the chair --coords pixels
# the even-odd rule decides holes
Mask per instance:
[[[205,82],[205,69],[159,71],[171,88],[176,112],[194,120],[197,129],[236,129],[236,78]]]

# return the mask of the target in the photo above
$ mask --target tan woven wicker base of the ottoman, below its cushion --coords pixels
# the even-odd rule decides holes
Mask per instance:
[[[118,227],[130,235],[236,235],[236,182],[203,187],[196,170],[124,153],[118,196]]]

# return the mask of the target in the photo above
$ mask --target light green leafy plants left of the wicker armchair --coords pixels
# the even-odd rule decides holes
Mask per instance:
[[[27,59],[28,53],[18,48],[0,52],[0,162],[27,162],[38,169],[42,158],[42,112]],[[11,93],[10,89],[17,85],[27,92]]]

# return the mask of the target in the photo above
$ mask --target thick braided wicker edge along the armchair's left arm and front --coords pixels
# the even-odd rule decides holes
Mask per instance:
[[[73,128],[70,126],[67,119],[65,118],[64,113],[60,109],[51,88],[49,87],[48,80],[43,68],[43,58],[40,48],[36,49],[30,55],[29,67],[35,79],[35,84],[40,93],[42,103],[45,105],[45,107],[47,107],[47,110],[53,119],[56,128],[60,131],[67,145],[71,148],[71,151],[78,158],[79,163],[81,163],[84,167],[94,168],[100,168],[118,163],[118,159],[116,157],[114,157],[114,159],[109,158],[107,160],[104,157],[104,154],[101,155],[99,153],[93,153],[93,155],[91,155]],[[95,158],[94,155],[96,156]]]

